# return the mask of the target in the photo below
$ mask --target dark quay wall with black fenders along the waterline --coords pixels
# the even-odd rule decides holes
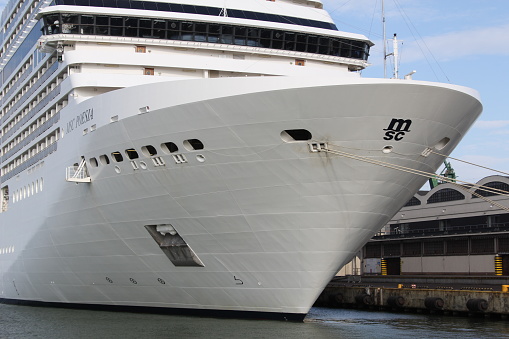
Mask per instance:
[[[509,280],[494,277],[335,278],[319,307],[509,317]]]

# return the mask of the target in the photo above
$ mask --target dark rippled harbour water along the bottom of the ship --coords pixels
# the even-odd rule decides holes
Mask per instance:
[[[0,338],[509,338],[509,320],[313,308],[303,323],[0,304]]]

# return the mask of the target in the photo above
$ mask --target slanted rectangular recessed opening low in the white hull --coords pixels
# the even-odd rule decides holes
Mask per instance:
[[[173,265],[205,266],[172,225],[146,225],[145,229],[150,233],[157,245],[159,245],[159,248],[166,254]]]

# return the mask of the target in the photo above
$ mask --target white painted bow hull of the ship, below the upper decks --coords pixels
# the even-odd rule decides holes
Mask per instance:
[[[29,193],[0,215],[0,298],[303,317],[426,181],[309,143],[434,172],[443,157],[423,151],[449,138],[449,154],[480,111],[462,87],[353,77],[170,81],[69,105],[57,151],[10,181]],[[77,122],[83,112],[93,117]],[[392,119],[411,121],[399,140],[386,140]],[[312,140],[285,142],[293,129]],[[185,149],[189,139],[204,148]],[[187,162],[161,151],[166,142]],[[130,148],[140,158],[89,166],[90,183],[65,180],[81,156]],[[203,267],[169,260],[145,228],[163,224]]]

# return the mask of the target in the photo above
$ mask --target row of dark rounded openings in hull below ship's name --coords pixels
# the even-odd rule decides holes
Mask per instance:
[[[184,148],[188,151],[198,151],[204,148],[203,143],[198,139],[188,139],[183,142]],[[172,154],[178,152],[178,146],[173,142],[165,142],[161,144],[161,150],[164,154]],[[141,153],[147,157],[151,158],[156,156],[157,149],[152,145],[146,145],[141,148]],[[140,156],[138,151],[134,148],[129,148],[124,151],[124,154],[129,158],[129,160],[138,159]],[[122,162],[124,161],[124,156],[120,151],[115,151],[111,153],[111,158],[114,162]],[[110,158],[108,155],[103,154],[99,156],[99,161],[97,158],[90,158],[89,163],[92,167],[98,167],[99,164],[108,165],[110,163]]]

